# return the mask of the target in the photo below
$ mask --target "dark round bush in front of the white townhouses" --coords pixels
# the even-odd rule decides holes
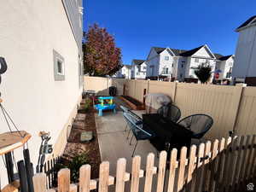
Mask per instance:
[[[202,63],[195,69],[196,77],[202,84],[206,84],[212,76],[212,67],[209,63]]]

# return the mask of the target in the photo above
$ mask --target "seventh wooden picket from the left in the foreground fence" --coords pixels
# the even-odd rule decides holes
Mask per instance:
[[[148,157],[147,157],[144,192],[151,192],[153,174],[154,174],[154,154],[150,153],[148,154]]]

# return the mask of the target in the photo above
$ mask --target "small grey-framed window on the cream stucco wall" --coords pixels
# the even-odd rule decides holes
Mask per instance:
[[[53,57],[55,81],[63,81],[65,80],[64,58],[55,49],[53,50]]]

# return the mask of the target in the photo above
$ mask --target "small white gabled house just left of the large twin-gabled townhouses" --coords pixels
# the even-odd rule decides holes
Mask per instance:
[[[145,60],[131,61],[131,79],[145,79],[147,73],[147,64]]]

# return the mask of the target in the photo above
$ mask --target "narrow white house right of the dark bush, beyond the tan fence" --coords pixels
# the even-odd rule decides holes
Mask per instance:
[[[217,58],[216,72],[219,73],[218,79],[231,80],[235,55],[227,55],[227,56],[218,55],[218,54],[214,54],[214,55]]]

